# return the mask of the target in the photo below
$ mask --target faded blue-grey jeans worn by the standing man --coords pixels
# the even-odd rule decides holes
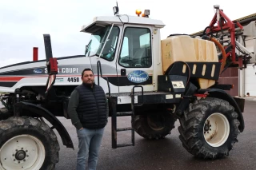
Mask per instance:
[[[77,130],[78,133],[78,160],[77,170],[86,169],[86,159],[88,158],[89,170],[95,170],[98,162],[98,152],[102,144],[104,128]],[[88,157],[89,156],[89,157]]]

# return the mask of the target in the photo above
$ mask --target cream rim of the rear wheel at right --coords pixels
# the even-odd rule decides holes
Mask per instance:
[[[203,128],[205,140],[210,146],[224,144],[230,134],[230,123],[222,113],[211,114]]]

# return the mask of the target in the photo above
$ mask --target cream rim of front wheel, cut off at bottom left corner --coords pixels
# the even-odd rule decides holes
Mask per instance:
[[[39,169],[45,160],[44,145],[30,135],[14,136],[0,149],[0,169]]]

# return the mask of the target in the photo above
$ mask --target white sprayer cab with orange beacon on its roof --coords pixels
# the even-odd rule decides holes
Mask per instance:
[[[117,11],[117,10],[114,10]],[[157,90],[157,75],[162,74],[161,35],[165,26],[161,20],[149,18],[149,11],[142,14],[135,10],[135,16],[116,14],[114,16],[95,17],[93,22],[82,26],[81,32],[91,34],[86,45],[86,57],[94,73],[97,73],[98,61],[102,62],[102,72],[106,75],[128,76],[141,70],[145,77],[129,77],[114,82],[113,92],[130,92],[132,85],[142,83],[146,91]],[[145,17],[143,17],[145,16]],[[154,48],[153,48],[154,47]],[[103,65],[107,65],[106,69]],[[155,74],[155,77],[153,77]],[[154,80],[153,80],[154,79]],[[128,85],[126,89],[120,86]]]

